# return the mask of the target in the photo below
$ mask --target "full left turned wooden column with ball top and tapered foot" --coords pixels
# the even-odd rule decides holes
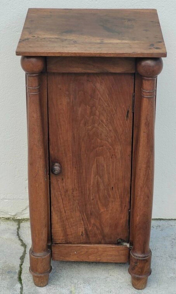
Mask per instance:
[[[46,162],[40,103],[40,73],[45,68],[43,57],[21,57],[27,81],[28,122],[28,188],[32,246],[29,250],[30,272],[36,286],[48,283],[51,252],[47,245],[48,196]]]

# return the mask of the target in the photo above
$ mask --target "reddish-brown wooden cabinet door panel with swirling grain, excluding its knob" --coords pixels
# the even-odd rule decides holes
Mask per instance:
[[[53,243],[129,241],[134,74],[48,73]]]

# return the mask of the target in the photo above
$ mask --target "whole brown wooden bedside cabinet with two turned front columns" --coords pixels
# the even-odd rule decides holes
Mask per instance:
[[[155,9],[29,9],[16,49],[26,72],[30,272],[53,260],[130,263],[145,288],[157,75]]]

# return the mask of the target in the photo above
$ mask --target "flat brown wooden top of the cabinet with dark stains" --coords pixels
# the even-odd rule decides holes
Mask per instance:
[[[166,57],[156,9],[29,9],[16,55]]]

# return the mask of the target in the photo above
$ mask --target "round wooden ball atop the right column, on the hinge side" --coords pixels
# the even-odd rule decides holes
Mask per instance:
[[[139,58],[137,59],[137,72],[143,77],[154,77],[162,71],[162,58]]]

